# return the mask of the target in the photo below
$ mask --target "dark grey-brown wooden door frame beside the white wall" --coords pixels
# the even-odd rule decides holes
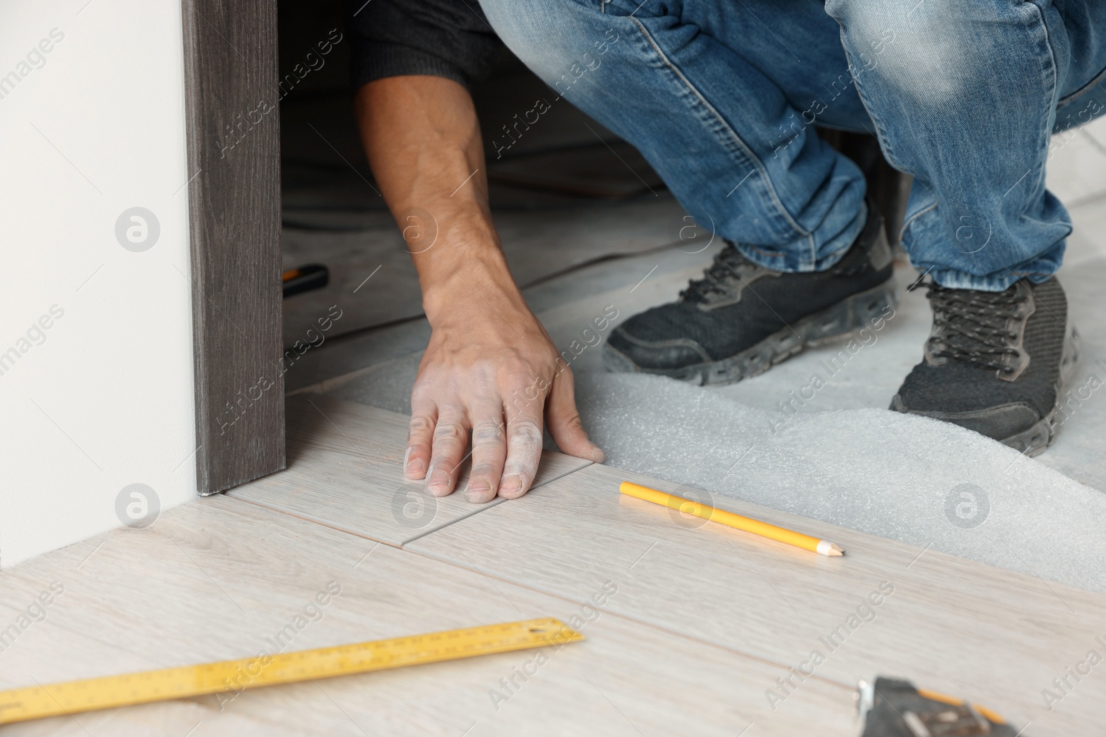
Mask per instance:
[[[284,467],[276,3],[182,0],[196,476]]]

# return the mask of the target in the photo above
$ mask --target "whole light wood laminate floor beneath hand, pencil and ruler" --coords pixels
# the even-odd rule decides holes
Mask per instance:
[[[627,476],[681,489],[555,453],[522,499],[434,499],[401,478],[401,415],[310,397],[289,418],[286,471],[0,573],[0,631],[63,588],[0,652],[0,688],[248,656],[298,615],[288,650],[534,617],[577,617],[586,641],[540,667],[504,653],[0,735],[846,736],[876,675],[1026,737],[1103,733],[1106,664],[1065,670],[1106,654],[1106,597],[718,498],[848,550],[810,555],[619,496]]]

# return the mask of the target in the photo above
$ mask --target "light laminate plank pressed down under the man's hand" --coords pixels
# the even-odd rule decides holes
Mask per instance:
[[[317,522],[388,545],[462,519],[503,499],[435,497],[403,474],[409,419],[387,410],[321,396],[288,400],[288,468],[230,489],[244,502]],[[591,462],[544,452],[541,486]],[[466,461],[458,488],[468,481]]]

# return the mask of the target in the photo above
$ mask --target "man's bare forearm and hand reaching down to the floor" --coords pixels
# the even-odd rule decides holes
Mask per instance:
[[[603,461],[581,427],[572,372],[503,260],[468,91],[442,77],[388,77],[363,86],[355,104],[431,327],[411,393],[407,477],[451,493],[471,431],[466,498],[522,496],[538,472],[543,418],[562,451]]]

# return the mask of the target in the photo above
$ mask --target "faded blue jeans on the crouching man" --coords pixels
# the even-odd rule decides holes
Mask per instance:
[[[639,4],[640,3],[640,4]],[[833,265],[865,180],[814,126],[915,177],[902,243],[949,287],[1043,282],[1072,230],[1053,130],[1106,112],[1106,2],[481,0],[551,87],[634,144],[697,222],[781,271]]]

